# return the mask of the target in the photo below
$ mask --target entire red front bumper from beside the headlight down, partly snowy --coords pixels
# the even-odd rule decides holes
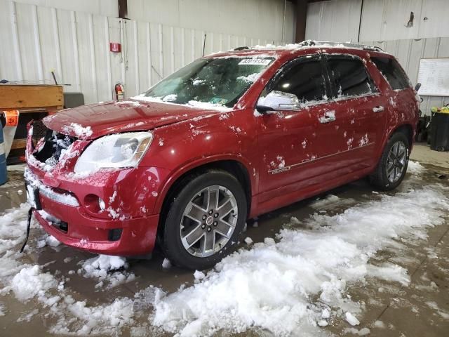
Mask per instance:
[[[159,223],[159,214],[153,213],[156,191],[165,172],[138,167],[77,177],[73,167],[87,144],[76,140],[48,169],[34,157],[38,150],[32,144],[31,126],[25,184],[29,204],[36,209],[34,216],[46,232],[67,246],[117,256],[151,253]]]

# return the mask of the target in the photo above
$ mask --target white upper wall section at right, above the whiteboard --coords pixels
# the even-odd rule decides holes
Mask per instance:
[[[362,0],[332,0],[307,6],[306,38],[357,41]],[[449,37],[448,0],[365,0],[360,41]],[[410,13],[413,25],[408,27]]]

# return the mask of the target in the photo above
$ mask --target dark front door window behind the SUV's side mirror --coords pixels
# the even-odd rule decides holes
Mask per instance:
[[[326,100],[326,81],[319,60],[300,61],[286,70],[272,90],[293,93],[301,103]]]

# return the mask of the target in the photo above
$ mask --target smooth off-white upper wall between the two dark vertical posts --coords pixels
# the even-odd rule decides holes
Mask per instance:
[[[281,41],[284,4],[284,37],[291,42],[295,5],[284,0],[128,0],[128,18]]]

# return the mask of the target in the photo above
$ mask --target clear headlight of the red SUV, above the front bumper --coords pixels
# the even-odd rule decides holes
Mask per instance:
[[[136,167],[152,143],[151,132],[130,132],[94,140],[76,161],[75,173]]]

